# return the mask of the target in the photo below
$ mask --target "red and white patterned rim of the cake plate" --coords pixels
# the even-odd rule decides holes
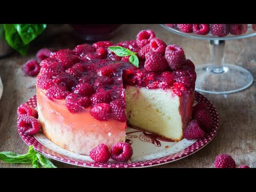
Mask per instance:
[[[31,107],[36,107],[36,95],[34,97],[30,98],[26,103]],[[66,155],[59,154],[46,146],[43,146],[41,142],[39,142],[34,135],[24,135],[19,129],[18,132],[20,134],[21,139],[28,145],[33,145],[35,150],[39,153],[50,157],[54,160],[71,164],[71,165],[77,165],[77,166],[84,166],[84,167],[102,167],[102,168],[133,168],[133,167],[149,167],[149,166],[156,166],[161,164],[166,164],[170,162],[177,161],[179,159],[185,158],[189,155],[192,155],[196,153],[198,150],[205,147],[215,136],[215,134],[218,131],[219,126],[219,116],[218,112],[207,98],[205,98],[202,94],[195,91],[195,101],[196,102],[203,102],[206,103],[207,107],[209,108],[210,115],[214,122],[214,127],[211,130],[210,133],[205,134],[205,137],[202,139],[196,140],[194,143],[192,143],[190,146],[186,147],[185,149],[182,149],[176,153],[173,153],[171,155],[166,155],[164,157],[159,157],[155,159],[149,159],[145,161],[137,161],[137,162],[115,162],[115,163],[97,163],[97,162],[91,162],[91,161],[85,161],[81,159],[75,159],[73,157],[69,157]],[[52,155],[52,153],[47,153],[44,148],[47,148],[49,151],[52,151],[54,154],[58,154],[58,156]],[[62,158],[62,157],[65,158]]]

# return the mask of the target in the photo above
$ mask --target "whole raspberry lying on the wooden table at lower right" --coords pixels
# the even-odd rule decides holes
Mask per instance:
[[[236,168],[236,163],[230,155],[220,154],[216,156],[214,166],[216,168]]]

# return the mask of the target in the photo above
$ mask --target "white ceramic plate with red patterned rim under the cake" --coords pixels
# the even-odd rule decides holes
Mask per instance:
[[[217,110],[202,94],[195,92],[195,103],[197,102],[206,103],[209,108],[210,115],[214,122],[214,127],[209,134],[205,134],[204,138],[198,140],[182,139],[179,142],[172,142],[162,139],[161,137],[157,137],[157,135],[153,133],[141,131],[134,127],[127,127],[126,142],[129,142],[133,148],[131,162],[119,163],[110,159],[107,163],[96,163],[93,162],[89,156],[79,155],[55,145],[47,139],[42,132],[32,136],[24,135],[19,129],[18,132],[27,145],[33,145],[35,150],[39,153],[63,163],[84,167],[107,168],[148,167],[161,165],[177,161],[195,153],[206,146],[217,133],[219,126]],[[27,104],[36,108],[36,95],[29,99]]]

